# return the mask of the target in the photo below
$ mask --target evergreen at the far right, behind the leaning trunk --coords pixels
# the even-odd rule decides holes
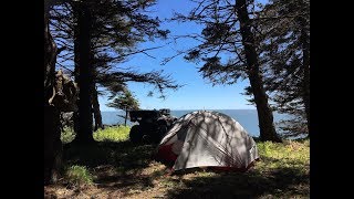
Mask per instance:
[[[267,90],[284,134],[310,135],[310,1],[274,0],[257,18]]]

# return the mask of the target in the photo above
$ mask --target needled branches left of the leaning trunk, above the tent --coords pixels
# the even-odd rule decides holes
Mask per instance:
[[[212,85],[236,84],[239,78],[248,77],[236,2],[198,0],[195,3],[196,8],[188,14],[177,13],[173,18],[202,27],[200,33],[185,36],[200,43],[186,51],[185,60],[201,63],[198,72]]]

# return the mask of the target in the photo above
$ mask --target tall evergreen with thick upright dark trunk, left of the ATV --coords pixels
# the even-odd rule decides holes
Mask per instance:
[[[74,60],[75,67],[70,71],[74,73],[75,78],[79,80],[80,88],[83,90],[80,104],[85,103],[86,107],[85,111],[82,109],[83,113],[80,111],[79,115],[76,114],[76,118],[79,117],[76,121],[81,121],[81,124],[75,125],[79,135],[76,138],[86,137],[85,139],[92,140],[91,127],[83,130],[80,128],[83,125],[92,126],[92,111],[98,113],[97,106],[95,106],[97,104],[94,103],[97,102],[96,84],[100,87],[112,87],[111,84],[115,84],[115,82],[119,84],[125,77],[134,81],[132,76],[135,76],[138,78],[137,82],[153,83],[159,91],[166,87],[178,87],[170,78],[164,76],[162,71],[138,73],[129,67],[119,66],[119,63],[129,55],[146,53],[146,50],[136,49],[135,44],[147,39],[165,38],[168,33],[168,31],[158,29],[158,19],[153,19],[146,14],[146,9],[153,4],[154,1],[147,0],[67,1],[54,10],[52,28],[56,33],[55,38],[59,45],[64,49],[61,51],[59,62],[60,65],[69,69],[63,64],[66,60]],[[83,9],[90,12],[90,17],[81,18]],[[82,32],[82,24],[84,23],[90,23],[90,25],[86,27],[85,32]],[[87,32],[90,32],[90,35]],[[84,43],[81,41],[83,40],[82,36],[86,34],[90,36],[90,45],[87,49],[83,49],[81,45]],[[83,52],[81,50],[87,51],[85,57],[82,57]],[[85,64],[82,64],[83,62]],[[90,74],[82,74],[82,70],[86,70]],[[81,76],[84,78],[81,78]],[[144,80],[146,76],[148,80]],[[152,77],[157,77],[157,80],[150,81]],[[82,84],[80,80],[86,82]],[[86,95],[87,93],[90,96]],[[88,106],[93,109],[87,108]]]

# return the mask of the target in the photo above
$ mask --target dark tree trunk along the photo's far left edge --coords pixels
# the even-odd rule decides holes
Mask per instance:
[[[49,103],[54,94],[56,44],[49,29],[49,1],[44,1],[44,184],[56,182],[61,168],[60,111]]]

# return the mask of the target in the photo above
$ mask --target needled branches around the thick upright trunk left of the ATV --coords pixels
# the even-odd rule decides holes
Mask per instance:
[[[60,49],[58,65],[76,73],[79,70],[70,61],[77,62],[79,52],[74,52],[80,35],[79,15],[80,8],[90,10],[93,15],[91,25],[92,64],[94,66],[94,82],[100,87],[116,94],[124,91],[126,82],[148,83],[162,92],[164,88],[176,90],[179,87],[163,71],[142,73],[123,66],[127,57],[148,50],[138,49],[138,44],[154,39],[166,39],[168,30],[159,29],[160,20],[147,14],[147,9],[154,6],[152,1],[65,1],[51,10],[51,32]],[[117,67],[117,65],[119,65]],[[75,66],[75,67],[76,67]]]

